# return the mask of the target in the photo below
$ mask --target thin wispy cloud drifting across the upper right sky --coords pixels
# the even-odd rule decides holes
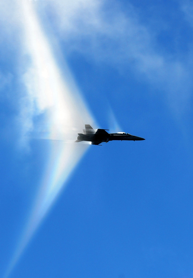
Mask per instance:
[[[69,55],[78,51],[122,72],[129,67],[136,79],[143,78],[164,93],[175,116],[187,110],[192,91],[189,53],[183,58],[160,51],[155,30],[142,23],[131,4],[127,13],[108,1],[46,1],[40,6],[52,18],[54,32],[63,39]]]

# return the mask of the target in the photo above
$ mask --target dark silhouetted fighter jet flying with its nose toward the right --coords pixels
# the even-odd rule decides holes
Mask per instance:
[[[75,142],[89,141],[92,145],[99,145],[102,142],[109,142],[113,140],[127,140],[127,141],[140,141],[145,140],[142,137],[134,136],[125,132],[108,133],[108,129],[94,130],[90,125],[85,125],[83,129],[84,134],[78,133],[78,138]],[[100,145],[102,146],[102,145]]]

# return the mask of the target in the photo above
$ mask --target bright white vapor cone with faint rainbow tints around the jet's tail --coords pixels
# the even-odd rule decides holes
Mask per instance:
[[[28,97],[35,103],[35,108],[32,105],[31,113],[32,116],[34,110],[36,114],[45,113],[46,138],[64,142],[50,142],[50,158],[33,209],[4,278],[13,270],[24,248],[63,188],[64,182],[88,147],[73,143],[77,131],[80,131],[85,123],[93,124],[78,90],[61,76],[32,1],[22,0],[18,3],[23,14],[25,49],[31,57],[30,67],[23,77]],[[45,126],[42,130],[44,128]]]

